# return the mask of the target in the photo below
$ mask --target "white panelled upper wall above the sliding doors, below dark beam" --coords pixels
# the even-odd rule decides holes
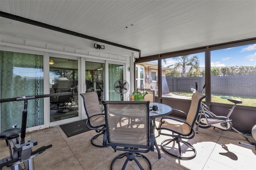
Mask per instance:
[[[81,57],[82,59],[94,59],[108,62],[124,63],[124,78],[133,83],[133,62],[132,53],[138,56],[137,51],[105,45],[105,49],[94,48],[94,43],[101,44],[92,40],[64,34],[41,28],[38,26],[0,18],[0,47],[25,49],[43,53],[55,53],[56,55],[69,55]],[[44,59],[47,60],[47,55]],[[46,61],[47,63],[47,61]],[[130,70],[128,71],[128,67]]]

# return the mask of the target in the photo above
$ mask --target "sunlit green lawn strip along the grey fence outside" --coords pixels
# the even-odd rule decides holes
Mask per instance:
[[[193,93],[184,93],[184,92],[175,92],[174,94],[179,95],[186,95],[188,97],[192,97]],[[232,102],[228,101],[227,99],[220,98],[221,95],[212,95],[212,102],[213,103],[225,103],[225,104],[233,104]],[[242,104],[238,105],[244,105],[244,106],[252,106],[256,107],[256,98],[249,98],[249,97],[237,97],[237,96],[229,96],[232,97],[232,99],[240,99],[243,101]],[[190,98],[191,99],[191,98]],[[205,100],[204,100],[205,101]]]

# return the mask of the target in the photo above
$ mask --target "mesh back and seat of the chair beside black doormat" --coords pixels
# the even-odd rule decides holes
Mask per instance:
[[[101,121],[98,119],[102,119],[100,117],[95,117],[93,119],[89,119],[90,117],[94,115],[98,115],[102,113],[102,109],[100,107],[100,103],[98,100],[98,95],[94,91],[92,92],[87,92],[87,93],[80,93],[80,96],[82,96],[83,101],[84,101],[84,109],[86,112],[86,115],[88,117],[88,120],[90,120],[90,125],[92,126],[97,126],[97,122]]]

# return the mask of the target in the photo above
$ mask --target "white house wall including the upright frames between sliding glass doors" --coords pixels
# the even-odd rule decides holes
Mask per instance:
[[[134,74],[132,73],[134,70],[134,57],[132,57],[132,55],[134,54],[134,56],[138,56],[139,53],[137,51],[102,44],[69,34],[48,30],[47,28],[10,20],[8,18],[0,17],[0,25],[0,50],[22,53],[40,53],[41,55],[44,55],[44,94],[50,93],[48,76],[49,57],[51,54],[58,57],[76,57],[81,61],[81,64],[79,65],[79,67],[81,67],[81,72],[85,67],[84,61],[103,61],[106,64],[121,63],[124,65],[124,79],[128,81],[130,90],[134,89]],[[94,48],[94,43],[105,45],[105,49]],[[129,71],[128,67],[130,67]],[[82,79],[82,82],[80,84],[79,93],[84,93],[86,91],[84,88],[86,87],[85,80],[83,81],[84,77],[80,78]],[[106,79],[108,79],[108,75],[106,75]],[[108,88],[106,88],[106,93],[108,93]],[[128,93],[125,94],[124,99],[127,99],[128,95]],[[49,102],[47,100],[48,99],[45,100],[45,105]],[[80,103],[80,107],[82,108],[82,103]],[[86,119],[84,109],[82,108],[81,111],[83,113],[80,119]],[[46,109],[44,112],[47,114],[48,110]],[[50,123],[47,122],[48,116],[45,115],[44,119],[44,126],[30,128],[29,131],[49,127]]]

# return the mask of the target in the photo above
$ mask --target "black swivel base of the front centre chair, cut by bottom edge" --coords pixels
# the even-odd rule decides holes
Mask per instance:
[[[147,158],[146,156],[144,156],[144,155],[138,153],[138,152],[125,152],[125,153],[122,153],[122,154],[116,156],[116,157],[114,158],[114,160],[111,162],[110,170],[113,169],[113,165],[114,165],[114,162],[116,161],[116,159],[123,158],[124,156],[126,156],[126,160],[125,160],[125,162],[124,162],[124,165],[123,165],[123,167],[122,167],[122,170],[125,169],[125,167],[126,167],[128,161],[132,161],[132,160],[134,160],[134,161],[136,162],[136,164],[139,166],[140,170],[144,170],[144,168],[141,166],[140,162],[136,159],[136,156],[144,158],[144,159],[148,162],[149,169],[152,170],[152,166],[151,166],[151,163],[150,163],[150,161],[148,160],[148,158]]]

